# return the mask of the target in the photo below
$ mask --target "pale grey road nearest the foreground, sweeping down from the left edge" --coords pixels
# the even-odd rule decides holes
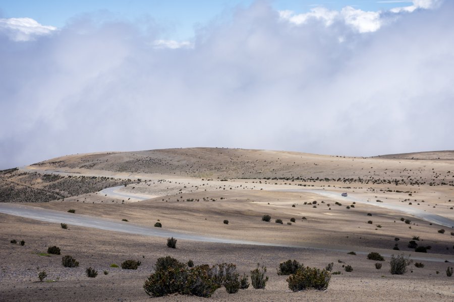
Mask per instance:
[[[312,249],[312,250],[323,250],[347,253],[351,250],[339,250],[329,248],[318,248],[309,246],[299,245],[286,245],[286,244],[274,244],[256,241],[245,241],[236,239],[226,239],[210,236],[200,236],[180,233],[177,231],[165,230],[161,228],[150,228],[147,226],[137,225],[130,222],[116,221],[113,219],[94,217],[89,215],[73,214],[68,212],[43,209],[35,206],[27,206],[23,204],[13,203],[2,203],[0,202],[0,213],[25,217],[46,222],[55,223],[67,223],[70,225],[79,225],[87,228],[94,228],[113,232],[122,232],[135,235],[154,236],[154,237],[174,237],[176,239],[201,241],[201,242],[212,242],[212,243],[224,243],[224,244],[241,244],[241,245],[256,245],[256,246],[270,246],[270,247],[286,247],[286,248],[298,248],[298,249]],[[355,251],[360,255],[367,255],[369,252]],[[391,257],[389,254],[382,254],[384,257]],[[446,258],[429,258],[429,257],[411,257],[411,259],[418,261],[433,261],[433,262],[444,262]],[[452,257],[451,257],[452,258]],[[450,259],[450,262],[454,259]]]

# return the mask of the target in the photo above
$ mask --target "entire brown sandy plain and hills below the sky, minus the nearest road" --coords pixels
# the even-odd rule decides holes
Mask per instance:
[[[191,259],[195,265],[233,262],[248,275],[257,262],[267,267],[264,290],[251,286],[228,294],[222,287],[210,298],[214,300],[452,301],[454,277],[447,277],[445,270],[454,266],[454,229],[405,210],[454,220],[453,176],[452,152],[348,158],[222,148],[76,155],[3,171],[4,202],[74,209],[74,215],[126,219],[150,228],[160,222],[162,230],[300,248],[180,239],[177,249],[170,249],[166,238],[74,225],[64,230],[60,223],[0,214],[0,300],[203,299],[146,295],[142,286],[153,264],[169,255],[182,262]],[[112,186],[119,187],[103,190]],[[264,214],[271,216],[270,222],[262,221]],[[445,232],[439,233],[442,229]],[[13,239],[18,243],[11,244]],[[416,253],[409,247],[412,240],[430,246],[428,253]],[[46,255],[47,247],[54,245],[62,255]],[[428,259],[416,260],[423,268],[412,264],[404,275],[391,275],[389,257],[376,269],[377,261],[361,254],[372,251]],[[63,267],[64,255],[72,255],[80,266]],[[128,259],[142,265],[137,270],[110,267]],[[333,262],[332,271],[341,274],[332,275],[326,291],[294,293],[287,276],[276,273],[279,263],[289,259],[318,268]],[[351,265],[353,271],[346,272],[343,265]],[[86,276],[89,266],[98,270],[96,278]],[[42,270],[47,272],[44,282],[37,277]]]

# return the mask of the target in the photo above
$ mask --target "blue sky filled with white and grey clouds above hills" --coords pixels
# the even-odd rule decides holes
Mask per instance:
[[[454,4],[0,1],[0,169],[77,153],[454,149]]]

